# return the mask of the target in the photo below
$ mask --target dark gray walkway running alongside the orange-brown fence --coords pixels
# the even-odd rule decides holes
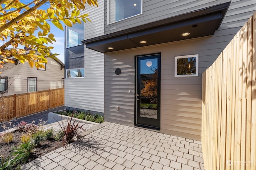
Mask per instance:
[[[35,124],[35,125],[38,125],[38,123],[40,123],[40,121],[41,121],[41,122],[45,122],[44,124],[47,125],[48,124],[48,113],[54,112],[54,111],[60,111],[63,109],[65,109],[65,106],[55,107],[53,109],[48,109],[45,111],[34,113],[32,115],[20,117],[18,119],[13,119],[13,120],[9,121],[9,122],[11,122],[11,125],[8,122],[0,123],[0,132],[7,130],[9,127],[12,128],[14,126],[17,126],[21,121],[26,121],[28,123],[34,122],[33,124]],[[5,124],[7,128],[4,129],[3,124]]]

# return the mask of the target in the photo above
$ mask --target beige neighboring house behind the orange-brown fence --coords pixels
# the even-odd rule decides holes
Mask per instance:
[[[36,52],[38,53],[38,52]],[[15,64],[5,63],[0,69],[0,96],[37,92],[64,87],[64,64],[60,60],[47,58],[45,68],[33,68],[12,57]]]

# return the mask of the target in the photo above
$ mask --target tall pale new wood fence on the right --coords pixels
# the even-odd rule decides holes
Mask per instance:
[[[256,12],[202,74],[206,170],[256,170]]]

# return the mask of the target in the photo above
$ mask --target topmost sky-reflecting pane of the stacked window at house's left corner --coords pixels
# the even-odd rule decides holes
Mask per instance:
[[[66,30],[67,48],[82,44],[81,40],[84,40],[84,22],[82,24],[76,23],[73,27],[67,27]]]

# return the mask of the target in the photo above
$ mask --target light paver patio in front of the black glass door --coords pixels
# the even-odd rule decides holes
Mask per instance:
[[[104,122],[84,138],[24,166],[30,170],[198,170],[201,142]]]

